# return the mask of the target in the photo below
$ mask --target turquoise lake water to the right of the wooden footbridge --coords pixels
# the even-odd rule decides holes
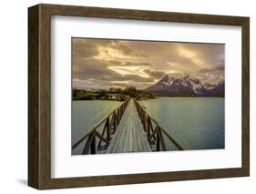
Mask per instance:
[[[161,97],[139,103],[185,148],[224,148],[223,97]]]

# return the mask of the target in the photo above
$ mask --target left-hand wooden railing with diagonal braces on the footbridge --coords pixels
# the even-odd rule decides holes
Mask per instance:
[[[126,107],[128,106],[129,100],[130,98],[128,98],[118,108],[108,114],[107,117],[103,118],[94,128],[85,132],[80,138],[77,138],[77,140],[72,145],[72,150],[77,148],[77,146],[86,138],[87,139],[82,154],[96,154],[98,150],[106,149],[109,145],[111,135],[114,134],[118,128],[118,124],[125,112]],[[99,128],[103,124],[104,128],[102,132],[100,132]]]

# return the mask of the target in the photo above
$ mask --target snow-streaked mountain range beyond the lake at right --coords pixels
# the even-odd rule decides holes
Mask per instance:
[[[165,75],[155,85],[147,87],[147,92],[159,97],[224,97],[225,83],[202,83],[199,79],[171,77]]]

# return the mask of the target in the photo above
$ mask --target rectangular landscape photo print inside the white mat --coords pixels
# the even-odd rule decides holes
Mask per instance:
[[[72,37],[72,155],[225,148],[225,45]]]

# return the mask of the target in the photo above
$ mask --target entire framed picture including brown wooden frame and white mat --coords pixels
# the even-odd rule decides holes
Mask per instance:
[[[249,177],[250,16],[117,7],[28,7],[28,186]]]

